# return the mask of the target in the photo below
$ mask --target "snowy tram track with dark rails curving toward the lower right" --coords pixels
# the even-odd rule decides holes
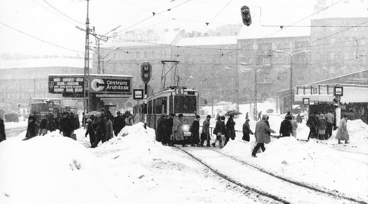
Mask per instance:
[[[224,154],[219,149],[212,147],[177,148],[229,182],[284,204],[316,202],[367,204],[362,200],[298,183],[267,172],[246,163],[246,161]],[[288,191],[289,189],[292,191]]]

